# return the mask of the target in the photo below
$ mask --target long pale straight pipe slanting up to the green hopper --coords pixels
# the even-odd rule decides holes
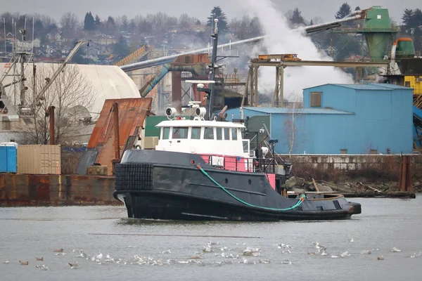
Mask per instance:
[[[359,11],[356,11],[356,12],[359,12]],[[319,24],[319,25],[309,25],[307,27],[300,27],[297,30],[304,30],[305,32],[307,32],[307,34],[312,33],[312,32],[321,31],[321,30],[330,30],[331,28],[339,27],[342,22],[349,22],[349,21],[352,21],[352,20],[360,20],[362,18],[365,18],[365,16],[366,16],[366,11],[364,10],[364,11],[361,11],[361,13],[359,13],[358,15],[354,15],[352,17],[342,18],[340,20],[334,20],[333,22],[322,23],[322,24]],[[261,41],[265,37],[268,37],[268,35],[262,35],[262,36],[253,37],[253,38],[250,38],[250,39],[244,39],[244,40],[240,40],[240,41],[229,42],[229,43],[226,43],[226,44],[221,44],[221,45],[219,45],[219,47],[223,48],[223,47],[232,47],[232,46],[243,45],[243,44],[248,44],[248,43],[255,43],[257,41]],[[210,51],[210,47],[200,48],[200,49],[197,49],[197,50],[188,51],[186,53],[179,53],[179,54],[175,54],[175,55],[167,55],[167,56],[161,57],[161,58],[154,58],[153,60],[144,60],[144,61],[139,62],[139,63],[130,63],[128,65],[122,65],[120,68],[124,72],[129,72],[129,71],[132,71],[132,70],[139,70],[141,68],[152,67],[152,66],[156,66],[156,65],[163,65],[165,63],[171,63],[175,58],[177,58],[181,55],[191,55],[191,54],[194,54],[194,53],[208,53],[209,51]]]

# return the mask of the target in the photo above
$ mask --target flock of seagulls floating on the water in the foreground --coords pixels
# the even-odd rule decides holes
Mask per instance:
[[[354,242],[353,238],[349,242]],[[328,254],[327,247],[324,247],[318,241],[311,242],[311,244],[314,245],[316,251],[308,251],[307,254],[309,255],[331,256],[332,259],[345,258],[347,256],[351,256],[349,251],[344,251],[341,254]],[[238,245],[238,243],[236,243],[236,245]],[[246,244],[243,243],[242,245],[245,246]],[[281,249],[282,254],[291,254],[294,248],[290,244],[283,244],[283,243],[276,244],[276,247],[278,249]],[[379,249],[365,250],[365,251],[362,251],[361,254],[372,254],[373,251],[378,251],[378,250]],[[151,256],[139,256],[137,254],[134,255],[132,260],[120,259],[120,258],[115,259],[112,256],[110,256],[109,253],[107,253],[106,255],[103,255],[101,252],[99,252],[98,254],[94,254],[91,256],[89,254],[85,254],[84,251],[82,251],[82,249],[73,249],[72,253],[75,253],[74,255],[75,258],[86,259],[87,261],[92,261],[96,264],[116,263],[116,264],[123,264],[123,265],[130,264],[130,265],[163,266],[165,264],[171,264],[171,263],[197,263],[197,264],[203,265],[204,263],[200,261],[201,259],[203,259],[203,256],[207,255],[207,253],[216,252],[216,251],[217,253],[215,253],[214,256],[218,256],[220,258],[223,258],[224,260],[213,262],[213,264],[215,265],[233,264],[233,263],[245,263],[245,264],[270,263],[269,260],[265,260],[265,259],[251,259],[251,258],[246,259],[246,257],[260,257],[261,256],[260,248],[246,247],[246,249],[242,253],[239,253],[241,254],[241,256],[239,256],[239,254],[229,254],[228,251],[231,251],[231,249],[227,247],[221,247],[219,245],[219,242],[208,242],[207,244],[205,244],[205,247],[203,247],[202,251],[193,252],[193,256],[189,257],[187,260],[153,259],[153,257]],[[160,254],[171,254],[171,252],[172,251],[170,249],[167,249],[165,251],[161,251]],[[401,252],[401,250],[398,249],[397,247],[393,247],[391,249],[391,252],[398,253],[398,252]],[[65,250],[63,248],[53,250],[53,253],[56,256],[66,255]],[[418,258],[421,256],[422,256],[422,252],[419,252],[418,254],[416,254],[415,252],[414,254],[409,256],[409,258]],[[384,256],[377,256],[377,260],[383,261]],[[35,257],[35,261],[37,262],[44,261],[44,257],[41,257],[41,258]],[[4,263],[8,264],[10,263],[10,261],[6,259]],[[19,263],[22,266],[29,265],[29,261],[19,261]],[[289,259],[283,259],[281,263],[286,264],[286,265],[292,264],[292,262]],[[68,265],[70,266],[70,269],[77,269],[79,266],[79,263],[76,261],[76,262],[68,263]],[[49,270],[49,267],[46,266],[45,264],[37,264],[35,265],[35,267],[39,268],[40,270]]]

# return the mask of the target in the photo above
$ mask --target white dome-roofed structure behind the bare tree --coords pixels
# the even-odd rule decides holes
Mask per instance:
[[[6,63],[0,63],[0,77],[7,70]],[[37,72],[42,73],[44,67],[51,67],[51,63],[35,63],[37,65]],[[56,63],[58,65],[58,63]],[[66,71],[65,66],[64,71]],[[73,66],[73,65],[72,65]],[[92,86],[91,94],[94,95],[94,103],[91,106],[90,112],[92,117],[97,119],[101,112],[104,101],[111,98],[140,98],[139,91],[134,81],[126,74],[120,67],[115,65],[75,65],[79,68],[80,73],[87,78],[87,81]],[[12,71],[12,70],[11,70]],[[32,64],[25,67],[26,77],[32,77]],[[60,77],[60,74],[59,76]],[[12,77],[6,77],[3,84],[8,84],[13,81]],[[37,81],[40,81],[37,79]],[[30,82],[26,82],[30,83]],[[29,86],[29,85],[27,85]],[[10,88],[10,87],[9,87]],[[12,96],[11,89],[6,88],[6,95]]]

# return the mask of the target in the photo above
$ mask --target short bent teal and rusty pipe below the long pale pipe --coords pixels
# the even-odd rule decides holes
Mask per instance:
[[[142,98],[145,98],[149,92],[153,90],[153,88],[161,81],[162,78],[165,77],[165,74],[171,71],[176,72],[191,72],[193,75],[199,76],[200,74],[204,74],[205,76],[205,64],[195,64],[195,65],[185,65],[185,64],[176,64],[176,63],[166,63],[162,65],[161,70],[155,74],[150,81],[146,82],[146,84],[139,89],[139,93],[141,94]]]

